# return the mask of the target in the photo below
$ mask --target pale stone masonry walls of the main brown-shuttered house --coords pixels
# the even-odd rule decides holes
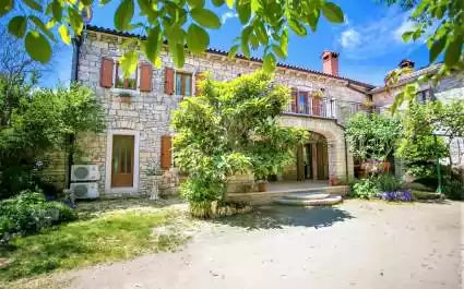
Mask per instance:
[[[78,57],[78,80],[85,86],[95,91],[102,101],[107,116],[107,131],[100,135],[85,135],[79,137],[79,142],[85,152],[75,162],[92,162],[99,166],[102,179],[99,181],[100,195],[120,195],[146,193],[151,190],[152,181],[147,176],[150,164],[160,159],[160,139],[163,135],[174,135],[170,127],[171,112],[178,108],[182,100],[180,95],[165,94],[165,68],[175,68],[172,60],[166,50],[162,51],[162,68],[153,68],[151,93],[130,91],[131,103],[120,103],[118,95],[127,93],[120,88],[105,88],[99,85],[102,58],[118,59],[122,56],[120,48],[124,37],[114,33],[103,33],[99,29],[90,28],[80,47]],[[140,62],[148,62],[140,53]],[[186,64],[179,70],[192,73],[192,91],[194,93],[195,73],[209,72],[215,80],[231,80],[241,74],[247,74],[261,69],[259,61],[234,59],[214,52],[202,56],[186,56]],[[139,71],[140,72],[140,71]],[[367,99],[368,87],[342,77],[331,77],[321,73],[309,73],[300,69],[277,68],[276,82],[288,87],[297,87],[307,91],[322,91],[324,97],[335,99],[337,108],[340,104],[360,105]],[[355,86],[355,88],[353,88]],[[337,110],[340,111],[340,110]],[[341,112],[336,112],[338,119],[309,118],[295,115],[283,115],[283,125],[299,127],[324,135],[329,142],[330,173],[344,177],[346,168],[353,174],[353,158],[345,156],[344,131],[338,122],[343,122]],[[346,113],[343,115],[346,118]],[[111,146],[111,135],[129,133],[135,136],[135,166],[138,171],[136,183],[132,190],[114,190],[110,188],[111,155],[108,150]],[[348,159],[348,166],[346,166]],[[165,172],[163,189],[175,191],[179,183],[176,169]],[[250,177],[238,177],[240,182],[250,181]]]

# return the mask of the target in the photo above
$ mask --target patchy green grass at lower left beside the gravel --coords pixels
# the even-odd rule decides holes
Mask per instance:
[[[0,268],[1,281],[130,258],[147,252],[171,250],[187,238],[180,233],[156,236],[178,214],[150,207],[114,210],[14,239],[0,246],[10,263]]]

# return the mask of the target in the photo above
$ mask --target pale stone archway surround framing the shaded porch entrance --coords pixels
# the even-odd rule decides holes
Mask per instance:
[[[281,125],[300,128],[323,135],[328,144],[329,177],[353,176],[353,157],[345,149],[345,132],[335,120],[301,116],[281,116]],[[347,171],[348,169],[348,171]]]

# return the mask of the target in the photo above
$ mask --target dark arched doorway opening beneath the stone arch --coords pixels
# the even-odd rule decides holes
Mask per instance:
[[[297,148],[297,180],[329,179],[328,140],[320,133],[310,132],[308,142]]]

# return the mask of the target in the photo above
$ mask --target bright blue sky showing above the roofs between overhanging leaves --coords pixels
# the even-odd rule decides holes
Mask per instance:
[[[424,40],[403,43],[402,32],[412,23],[407,12],[386,8],[374,0],[334,0],[343,9],[346,23],[335,25],[321,17],[318,31],[301,38],[290,35],[288,58],[281,62],[321,70],[320,55],[324,49],[340,52],[340,73],[361,82],[382,84],[388,71],[396,68],[404,58],[416,62],[416,68],[428,64]],[[105,8],[96,7],[92,24],[112,28],[112,15],[119,1]],[[211,31],[211,47],[228,50],[239,35],[241,25],[233,11],[222,8],[224,25]],[[257,53],[257,56],[260,56]],[[45,75],[43,84],[52,86],[67,83],[71,74],[71,47],[63,47],[53,59],[52,72]]]

